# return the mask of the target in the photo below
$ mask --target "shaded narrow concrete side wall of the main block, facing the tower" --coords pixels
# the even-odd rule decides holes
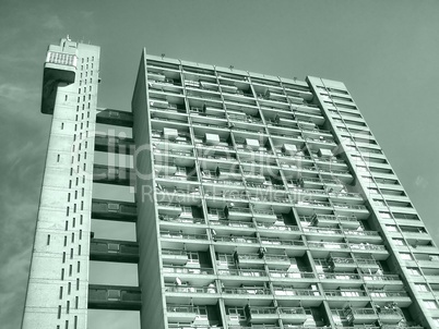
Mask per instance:
[[[142,329],[166,328],[164,307],[165,301],[162,295],[164,285],[161,276],[159,260],[159,228],[157,210],[154,205],[155,191],[153,191],[153,161],[150,141],[151,122],[149,120],[149,106],[146,95],[146,60],[145,50],[139,68],[132,99],[132,112],[134,115],[133,136],[137,148],[134,168],[140,172],[137,176],[137,206],[138,206],[138,242],[140,249],[139,282],[142,289]],[[153,191],[153,198],[143,197],[143,186]]]

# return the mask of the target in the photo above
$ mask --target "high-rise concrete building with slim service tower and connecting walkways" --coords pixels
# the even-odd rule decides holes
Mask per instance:
[[[143,50],[124,112],[96,108],[98,81],[98,47],[49,47],[24,329],[84,329],[91,308],[143,329],[439,328],[439,251],[343,83]],[[90,261],[138,264],[139,284],[91,284]]]

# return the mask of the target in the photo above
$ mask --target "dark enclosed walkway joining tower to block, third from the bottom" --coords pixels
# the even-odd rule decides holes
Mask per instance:
[[[112,202],[104,199],[92,200],[92,217],[116,221],[137,221],[137,207],[133,203]]]

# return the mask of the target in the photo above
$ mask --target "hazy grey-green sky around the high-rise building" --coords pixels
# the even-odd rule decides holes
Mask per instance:
[[[0,327],[20,328],[23,312],[50,127],[39,111],[49,44],[70,35],[100,46],[98,103],[123,110],[143,47],[192,62],[344,82],[439,243],[438,17],[439,1],[424,0],[2,0]]]

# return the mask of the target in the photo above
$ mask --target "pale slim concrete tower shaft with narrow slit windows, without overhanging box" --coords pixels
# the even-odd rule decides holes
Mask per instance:
[[[75,81],[58,87],[22,322],[25,329],[86,328],[99,48],[64,39],[50,48],[69,53],[72,49],[79,58]]]

